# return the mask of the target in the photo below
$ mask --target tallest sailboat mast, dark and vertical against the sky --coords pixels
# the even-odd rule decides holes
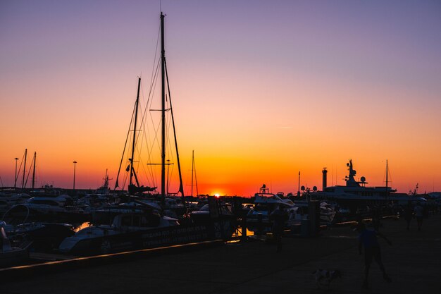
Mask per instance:
[[[164,48],[164,15],[161,12],[161,204],[166,202],[166,50]]]

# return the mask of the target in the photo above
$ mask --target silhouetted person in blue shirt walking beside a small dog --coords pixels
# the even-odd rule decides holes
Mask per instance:
[[[361,248],[364,247],[364,281],[363,281],[363,288],[368,288],[368,275],[369,275],[369,269],[371,268],[372,259],[377,262],[378,266],[380,267],[381,272],[383,273],[383,278],[387,282],[391,282],[389,276],[387,276],[385,271],[385,266],[383,265],[383,262],[381,262],[381,250],[380,250],[380,244],[378,244],[377,236],[380,236],[381,238],[385,239],[386,242],[389,245],[392,245],[390,240],[388,240],[385,235],[373,231],[368,230],[364,223],[359,222],[357,225],[357,231],[359,231],[359,253],[361,255]]]

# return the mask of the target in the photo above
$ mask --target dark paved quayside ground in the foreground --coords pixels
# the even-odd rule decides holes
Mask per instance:
[[[190,252],[149,256],[13,281],[0,276],[0,293],[441,293],[441,216],[430,216],[423,231],[406,231],[404,220],[383,221],[392,240],[380,240],[392,283],[373,264],[369,290],[361,289],[363,257],[349,227],[323,231],[313,239],[285,238],[274,245],[251,241]],[[311,272],[342,271],[330,290],[317,289]]]

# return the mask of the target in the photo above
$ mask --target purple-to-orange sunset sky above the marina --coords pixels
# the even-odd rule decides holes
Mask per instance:
[[[73,161],[76,188],[115,184],[161,10],[187,195],[193,150],[199,194],[295,193],[299,172],[321,190],[323,167],[344,185],[349,159],[368,185],[387,161],[398,192],[441,190],[441,2],[406,0],[1,0],[0,186],[25,149],[37,186],[72,188]]]

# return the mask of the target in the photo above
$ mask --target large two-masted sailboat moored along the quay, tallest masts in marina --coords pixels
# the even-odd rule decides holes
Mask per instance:
[[[166,83],[167,82],[167,83]],[[159,247],[163,245],[175,245],[180,243],[197,242],[214,238],[213,227],[196,226],[192,224],[179,225],[177,219],[163,216],[161,209],[166,202],[166,111],[170,111],[174,125],[173,108],[171,107],[170,89],[168,87],[168,75],[166,71],[166,59],[164,49],[164,15],[161,13],[161,205],[142,201],[144,192],[153,192],[156,187],[140,185],[135,169],[135,149],[137,140],[137,108],[139,106],[139,89],[141,78],[138,79],[137,99],[134,110],[134,123],[132,129],[132,150],[129,159],[128,201],[117,207],[109,207],[113,212],[113,221],[109,224],[89,226],[78,231],[72,237],[63,240],[59,246],[61,252],[75,255],[95,255],[125,250],[137,250],[147,247]],[[170,109],[166,109],[166,85],[168,90],[168,102]],[[184,197],[182,175],[180,173],[180,161],[176,133],[175,152],[178,158],[178,170],[180,178],[179,192]],[[127,142],[127,140],[126,140]],[[122,166],[121,160],[120,166]],[[118,176],[116,187],[118,187]],[[184,201],[183,201],[184,202]],[[185,202],[184,202],[185,203]]]

